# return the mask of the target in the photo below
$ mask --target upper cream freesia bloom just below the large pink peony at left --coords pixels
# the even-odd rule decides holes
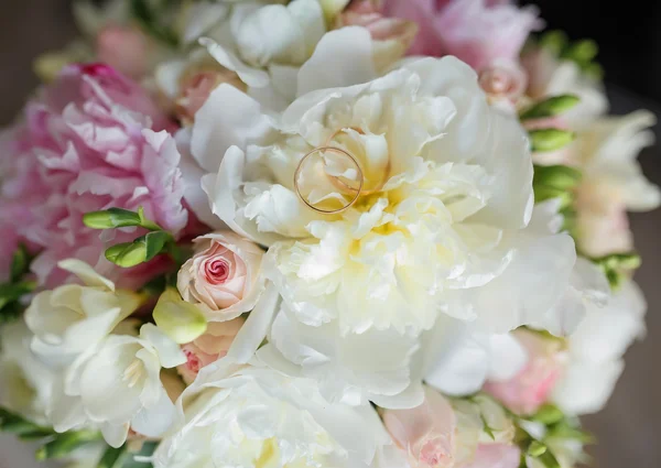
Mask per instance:
[[[85,285],[65,284],[39,293],[25,311],[25,323],[40,358],[68,363],[110,334],[138,308],[141,298],[131,291],[116,291],[110,280],[79,260],[64,260],[58,266]]]

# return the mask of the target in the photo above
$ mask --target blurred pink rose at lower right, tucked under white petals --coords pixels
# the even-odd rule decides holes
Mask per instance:
[[[534,331],[514,331],[528,352],[528,363],[512,379],[488,381],[484,391],[514,413],[528,415],[548,402],[565,363],[562,342]]]

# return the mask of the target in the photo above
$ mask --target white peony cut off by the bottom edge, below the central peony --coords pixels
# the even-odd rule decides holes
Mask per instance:
[[[182,424],[155,468],[379,467],[398,455],[369,406],[325,401],[311,379],[223,359],[202,369],[177,402]]]

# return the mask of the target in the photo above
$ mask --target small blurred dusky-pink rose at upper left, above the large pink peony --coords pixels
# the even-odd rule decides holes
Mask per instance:
[[[97,57],[131,78],[147,73],[152,44],[136,26],[108,25],[97,36]]]

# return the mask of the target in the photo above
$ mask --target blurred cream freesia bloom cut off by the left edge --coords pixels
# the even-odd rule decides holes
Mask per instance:
[[[30,349],[32,337],[22,319],[0,327],[0,394],[3,406],[45,424],[54,376]]]

